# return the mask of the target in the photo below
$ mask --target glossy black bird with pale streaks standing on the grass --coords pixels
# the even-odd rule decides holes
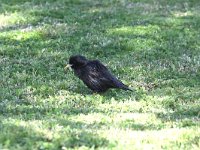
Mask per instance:
[[[71,56],[69,66],[74,70],[75,75],[81,79],[93,92],[101,93],[109,88],[130,90],[98,60],[87,60],[84,56]]]

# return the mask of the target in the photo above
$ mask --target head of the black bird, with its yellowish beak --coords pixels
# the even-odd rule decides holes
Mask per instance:
[[[69,58],[69,64],[66,67],[71,67],[72,69],[77,69],[79,67],[86,65],[87,62],[88,62],[88,60],[84,56],[75,55],[75,56],[71,56]]]

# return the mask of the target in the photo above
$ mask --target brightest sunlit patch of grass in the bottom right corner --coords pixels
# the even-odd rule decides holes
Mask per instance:
[[[186,138],[190,132],[194,132],[196,128],[193,129],[165,129],[160,131],[132,131],[132,130],[108,130],[109,138],[114,138],[118,143],[118,148],[129,149],[198,149],[199,145],[188,145],[184,143],[189,143],[190,140]],[[193,139],[199,142],[198,133],[195,133]],[[130,148],[130,149],[131,149]]]

